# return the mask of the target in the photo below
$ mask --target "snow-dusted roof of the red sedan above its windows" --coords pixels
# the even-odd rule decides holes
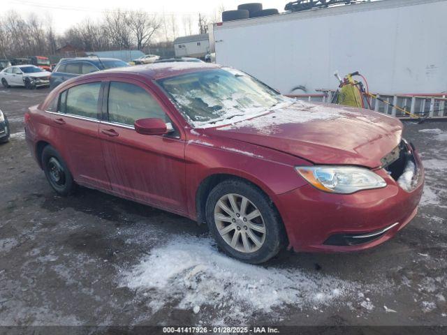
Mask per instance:
[[[145,77],[149,77],[149,79],[152,80],[157,80],[163,77],[173,77],[175,75],[181,75],[183,73],[211,70],[213,68],[221,68],[221,66],[218,64],[198,63],[194,61],[176,61],[168,63],[129,66],[128,68],[110,68],[108,70],[101,71],[100,73],[92,73],[91,75],[100,75],[104,73],[132,73],[135,75],[143,75]]]

